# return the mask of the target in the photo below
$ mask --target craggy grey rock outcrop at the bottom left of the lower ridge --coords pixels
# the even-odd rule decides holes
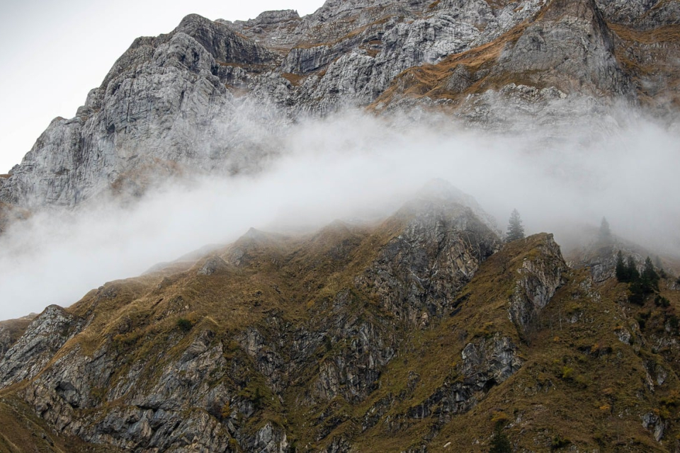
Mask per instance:
[[[151,389],[137,386],[150,365],[140,364],[130,370],[127,383],[104,390],[118,366],[115,350],[103,348],[88,357],[74,349],[40,374],[23,395],[58,430],[89,442],[135,451],[226,451],[229,432],[210,415],[230,398],[227,389],[209,385],[209,376],[226,369],[221,343],[211,347],[214,337],[210,331],[200,333],[178,360],[162,369]],[[124,404],[103,411],[101,398]],[[74,411],[81,408],[91,408],[94,415],[78,418]]]

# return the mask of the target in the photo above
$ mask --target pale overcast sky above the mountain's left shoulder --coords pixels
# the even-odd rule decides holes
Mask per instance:
[[[313,13],[324,0],[0,1],[0,173],[18,164],[57,117],[74,117],[138,36],[173,30],[189,13],[212,20],[262,11]]]

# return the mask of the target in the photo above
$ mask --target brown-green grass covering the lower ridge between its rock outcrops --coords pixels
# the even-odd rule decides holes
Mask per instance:
[[[131,363],[148,361],[159,348],[167,351],[163,362],[174,360],[200,331],[210,328],[225,344],[225,355],[248,362],[249,357],[233,340],[237,333],[250,325],[266,328],[262,321],[271,311],[288,323],[323,322],[323,301],[351,287],[353,276],[375,258],[380,246],[398,234],[407,220],[407,215],[392,219],[376,229],[336,223],[302,238],[259,234],[221,251],[223,256],[242,256],[244,263],[230,265],[222,273],[198,275],[201,260],[189,270],[108,283],[69,309],[78,316],[94,314],[94,320],[64,351],[80,345],[91,353],[112,343],[128,357],[120,368],[123,376]],[[443,425],[431,440],[432,450],[451,442],[456,449],[487,451],[495,423],[504,420],[504,432],[511,442],[533,451],[550,449],[555,439],[579,449],[664,451],[680,434],[676,420],[679,365],[675,349],[655,350],[649,338],[676,338],[676,331],[665,332],[663,320],[680,307],[679,293],[664,289],[664,296],[671,301],[668,308],[655,306],[651,299],[644,307],[631,306],[625,302],[625,285],[609,281],[601,287],[589,287],[587,270],[574,270],[567,285],[545,309],[536,330],[522,340],[508,319],[508,296],[514,287],[515,270],[525,257],[537,253],[536,246],[542,240],[543,236],[532,236],[516,241],[489,258],[460,294],[460,312],[455,316],[433,320],[426,329],[403,332],[402,346],[382,372],[378,389],[354,406],[342,398],[311,408],[295,403],[305,391],[305,383],[318,372],[313,364],[300,376],[300,385],[285,392],[283,405],[269,397],[271,391],[251,367],[246,371],[250,384],[243,389],[244,394],[253,394],[257,387],[265,401],[274,402],[250,423],[254,428],[265,420],[285,425],[299,447],[311,449],[327,445],[341,434],[353,437],[360,451],[397,452],[419,445],[432,436],[436,421],[409,419],[404,414],[447,377],[458,373],[460,352],[467,343],[501,332],[519,345],[523,367],[492,389],[479,406]],[[356,295],[348,311],[378,326],[390,323],[390,315],[361,294]],[[640,311],[650,311],[641,334],[636,333],[635,320]],[[181,332],[176,324],[179,318],[195,323],[191,332]],[[632,345],[618,339],[622,328],[634,333]],[[647,368],[658,363],[669,371],[667,381],[661,386],[655,384],[653,391],[646,384],[645,362]],[[147,377],[153,376],[154,369],[161,369],[160,365],[147,367]],[[414,376],[415,384],[409,386]],[[4,394],[4,398],[11,398]],[[380,401],[392,403],[375,426],[361,432],[363,418],[380,406]],[[16,407],[29,413],[21,404]],[[16,411],[6,403],[0,404],[6,420],[24,420],[4,425],[13,426],[7,432],[14,437],[7,441],[23,445],[20,451],[31,451],[26,446],[38,442],[33,433],[48,432],[47,428],[35,417],[21,418]],[[640,415],[647,412],[662,415],[669,423],[662,445],[642,428]],[[331,417],[320,418],[322,413]],[[404,421],[398,430],[385,423],[399,417]],[[310,420],[320,421],[312,421],[317,426],[310,426]],[[33,428],[36,423],[42,431]],[[329,435],[317,440],[319,425],[328,423]],[[59,445],[57,437],[50,437]]]

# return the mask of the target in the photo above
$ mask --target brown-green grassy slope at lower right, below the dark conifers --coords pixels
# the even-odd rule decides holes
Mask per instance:
[[[431,330],[416,331],[409,347],[385,369],[380,389],[365,403],[343,408],[351,418],[333,434],[358,432],[363,415],[381,398],[405,394],[405,398],[396,398],[378,425],[355,442],[358,451],[399,452],[417,447],[421,439],[431,437],[435,420],[410,420],[397,431],[385,420],[416,406],[455,374],[466,343],[500,331],[521,344],[524,366],[492,389],[477,408],[444,425],[431,441],[431,450],[450,442],[453,451],[487,451],[499,420],[506,423],[506,435],[520,450],[545,451],[560,444],[576,445],[579,450],[673,449],[679,432],[680,382],[669,362],[648,348],[644,336],[636,336],[632,345],[618,339],[618,330],[635,331],[637,326],[631,316],[635,308],[621,302],[625,285],[608,282],[590,287],[587,270],[573,271],[539,319],[537,331],[520,342],[507,316],[507,294],[514,285],[514,269],[523,257],[531,256],[532,247],[531,241],[518,241],[489,258],[461,294],[460,313]],[[664,294],[672,299],[672,306],[680,304],[677,293]],[[647,367],[658,363],[669,371],[663,385],[647,386],[645,362]],[[409,391],[412,373],[419,374],[420,380]],[[642,428],[640,415],[648,412],[666,418],[662,444]]]

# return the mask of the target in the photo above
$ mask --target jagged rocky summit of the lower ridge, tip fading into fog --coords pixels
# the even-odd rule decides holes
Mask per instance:
[[[424,312],[442,316],[458,289],[497,250],[499,238],[470,208],[455,201],[424,200],[407,205],[398,215],[411,219],[407,228],[356,285],[410,323],[417,323]]]

